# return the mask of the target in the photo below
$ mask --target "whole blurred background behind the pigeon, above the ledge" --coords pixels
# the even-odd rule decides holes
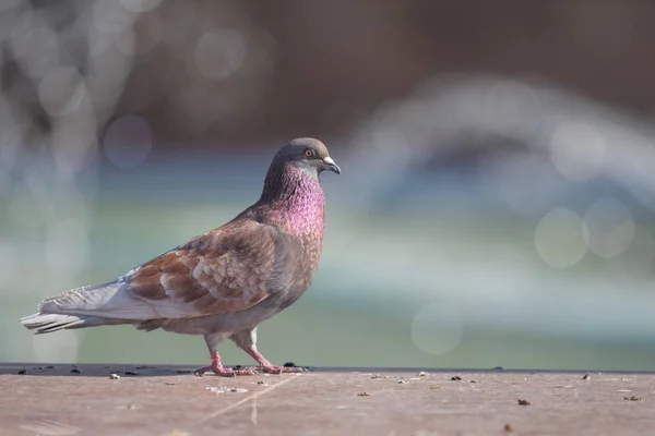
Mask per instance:
[[[201,337],[35,337],[324,141],[303,365],[655,370],[655,3],[0,2],[0,361],[205,364]],[[249,364],[234,344],[225,361]]]

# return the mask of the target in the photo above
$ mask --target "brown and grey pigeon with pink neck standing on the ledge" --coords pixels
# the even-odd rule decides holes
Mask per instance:
[[[324,232],[319,175],[325,170],[341,173],[322,142],[294,140],[273,158],[259,201],[231,221],[116,280],[50,296],[20,322],[36,334],[127,324],[203,335],[212,364],[198,375],[301,372],[266,360],[257,349],[257,329],[312,281]],[[225,339],[259,366],[224,367],[217,348]]]

